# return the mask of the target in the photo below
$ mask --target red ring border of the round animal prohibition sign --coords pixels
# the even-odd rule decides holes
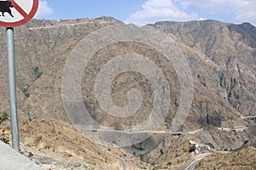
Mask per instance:
[[[8,1],[11,2],[11,3],[15,3],[15,0],[8,0]],[[23,20],[19,20],[19,21],[15,21],[15,22],[0,21],[0,26],[4,26],[4,27],[17,27],[17,26],[22,26],[22,25],[26,24],[28,21],[32,20],[33,16],[37,13],[38,5],[39,5],[39,0],[33,0],[32,9],[29,12],[29,14],[27,14],[24,17]]]

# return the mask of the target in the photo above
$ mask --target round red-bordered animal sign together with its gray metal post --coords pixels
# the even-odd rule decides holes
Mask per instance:
[[[0,26],[6,27],[7,52],[9,68],[9,110],[12,129],[13,148],[20,151],[19,127],[17,116],[16,82],[15,82],[15,45],[14,28],[26,24],[38,11],[39,0],[0,1]]]

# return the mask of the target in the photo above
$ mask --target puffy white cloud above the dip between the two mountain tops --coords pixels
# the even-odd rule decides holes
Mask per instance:
[[[183,3],[183,8],[189,3]],[[185,13],[178,8],[172,0],[148,0],[143,4],[143,9],[134,14],[130,14],[125,22],[137,25],[145,25],[160,20],[200,20],[201,18],[195,13]]]

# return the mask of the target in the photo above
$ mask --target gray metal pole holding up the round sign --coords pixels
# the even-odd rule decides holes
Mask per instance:
[[[9,68],[9,110],[12,129],[13,148],[20,152],[19,127],[17,117],[17,99],[16,99],[16,82],[15,82],[15,45],[14,45],[14,28],[7,28],[7,53]]]

